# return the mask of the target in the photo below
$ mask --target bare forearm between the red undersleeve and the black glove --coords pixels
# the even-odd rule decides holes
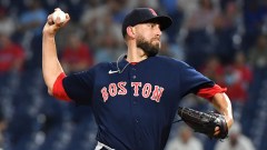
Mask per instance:
[[[234,123],[231,102],[226,93],[216,93],[212,97],[214,107],[225,116],[228,128]]]

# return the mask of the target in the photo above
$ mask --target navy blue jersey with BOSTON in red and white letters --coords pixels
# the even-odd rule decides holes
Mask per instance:
[[[150,57],[137,64],[123,59],[68,76],[63,88],[76,103],[89,104],[97,140],[116,150],[162,150],[180,99],[214,82],[185,62]]]

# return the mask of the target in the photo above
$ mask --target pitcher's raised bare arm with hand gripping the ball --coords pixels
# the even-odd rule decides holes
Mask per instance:
[[[60,23],[59,19],[53,22],[52,14],[49,14],[47,23],[42,30],[42,74],[48,87],[48,93],[50,96],[52,96],[55,81],[59,74],[63,72],[63,69],[57,56],[55,37],[57,31],[69,20],[70,17],[68,13],[66,13],[66,21],[63,23]]]

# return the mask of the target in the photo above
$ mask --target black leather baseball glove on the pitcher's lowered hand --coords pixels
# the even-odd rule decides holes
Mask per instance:
[[[225,139],[228,127],[225,118],[216,112],[201,112],[189,108],[178,108],[178,114],[195,132],[208,136],[210,139]],[[215,128],[219,127],[219,133],[215,136]]]

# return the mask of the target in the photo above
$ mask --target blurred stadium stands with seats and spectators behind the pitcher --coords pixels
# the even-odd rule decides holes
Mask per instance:
[[[186,61],[228,88],[236,120],[225,142],[174,123],[167,150],[267,149],[267,0],[1,0],[0,150],[90,150],[90,108],[55,100],[41,73],[42,27],[55,8],[71,17],[57,34],[67,73],[126,52],[121,21],[134,7],[172,18],[160,54]],[[212,110],[187,96],[181,106]]]

